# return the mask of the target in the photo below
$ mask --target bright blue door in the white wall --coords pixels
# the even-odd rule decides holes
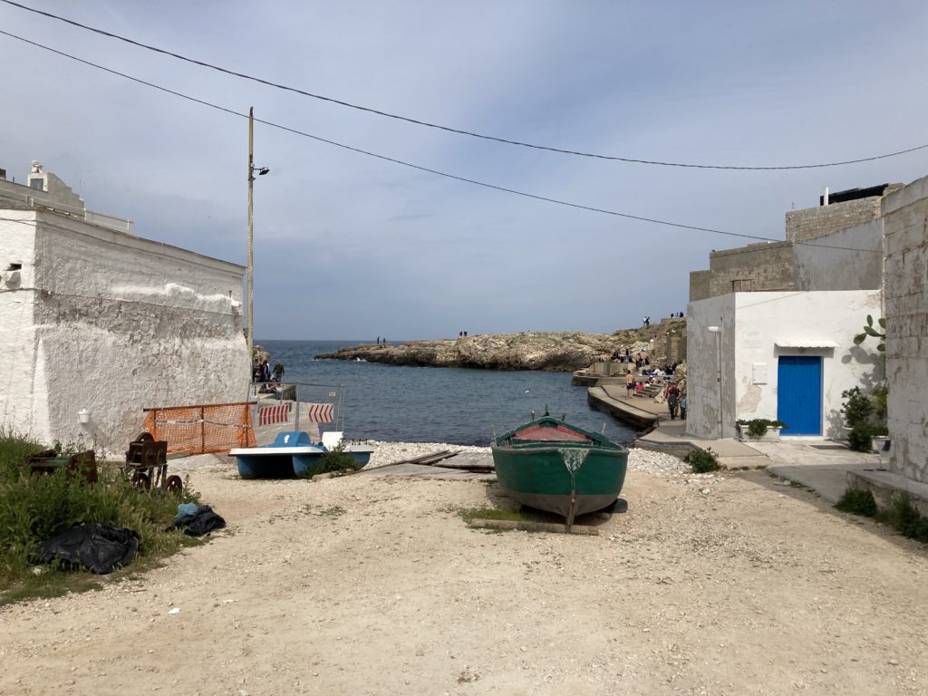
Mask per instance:
[[[780,355],[777,419],[790,426],[783,434],[821,434],[821,357]]]

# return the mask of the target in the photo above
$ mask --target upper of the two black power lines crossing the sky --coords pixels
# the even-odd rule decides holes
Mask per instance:
[[[57,19],[58,21],[65,22],[66,24],[71,24],[71,26],[79,27],[80,29],[85,29],[88,32],[94,32],[94,33],[100,34],[101,36],[107,36],[111,39],[122,41],[126,44],[135,45],[135,46],[138,46],[139,48],[145,48],[148,51],[154,51],[155,53],[160,53],[161,55],[164,55],[164,56],[170,56],[171,58],[177,58],[178,60],[183,60],[183,61],[186,61],[187,63],[192,63],[193,65],[199,65],[202,68],[208,68],[213,71],[223,72],[226,75],[232,75],[233,77],[239,77],[243,80],[251,80],[251,82],[264,84],[269,87],[274,87],[276,89],[285,90],[287,92],[293,92],[294,94],[302,95],[303,97],[311,97],[314,99],[319,99],[320,101],[328,101],[332,104],[338,104],[339,106],[347,107],[349,109],[367,111],[367,113],[373,113],[378,116],[383,116],[385,118],[394,119],[396,121],[405,121],[407,123],[414,123],[415,125],[425,126],[427,128],[435,128],[437,130],[445,131],[447,133],[456,133],[458,135],[468,135],[470,137],[476,137],[482,140],[491,140],[496,143],[503,143],[505,145],[514,145],[514,146],[518,146],[521,148],[532,148],[532,149],[547,150],[548,152],[558,152],[563,155],[575,155],[577,157],[587,157],[587,158],[592,158],[596,160],[624,161],[624,162],[633,163],[633,164],[652,164],[652,165],[657,165],[657,166],[662,166],[662,167],[683,167],[686,169],[722,169],[722,170],[736,170],[736,171],[750,171],[750,172],[771,172],[771,171],[783,171],[783,170],[791,170],[791,169],[822,169],[825,167],[840,167],[840,166],[844,166],[847,164],[860,164],[861,162],[866,162],[866,161],[885,160],[890,157],[898,157],[899,155],[905,155],[905,154],[908,154],[909,152],[916,152],[918,150],[928,148],[928,144],[925,144],[925,145],[916,146],[914,148],[906,148],[906,149],[897,150],[896,152],[888,152],[883,155],[874,155],[872,157],[862,157],[857,160],[821,162],[817,164],[791,164],[791,165],[783,165],[783,166],[736,166],[736,165],[727,165],[727,164],[694,164],[691,162],[642,160],[642,159],[636,159],[636,158],[631,158],[631,157],[619,157],[616,155],[603,155],[603,154],[597,154],[594,152],[583,152],[580,150],[573,150],[573,149],[554,148],[554,147],[550,147],[546,145],[535,145],[533,143],[526,143],[521,140],[511,140],[509,138],[498,137],[496,135],[484,135],[481,133],[474,133],[472,131],[465,131],[460,128],[453,128],[451,126],[442,125],[440,123],[422,121],[420,119],[414,119],[409,116],[400,116],[395,113],[390,113],[389,111],[382,111],[378,109],[373,109],[371,107],[361,106],[359,104],[353,104],[352,102],[344,101],[342,99],[336,99],[335,97],[326,97],[324,95],[314,94],[313,92],[307,92],[298,87],[291,87],[290,85],[287,85],[287,84],[279,84],[279,83],[271,82],[270,80],[264,80],[263,78],[255,77],[253,75],[249,75],[244,72],[232,71],[232,70],[223,68],[218,65],[213,65],[213,63],[207,63],[206,61],[203,61],[203,60],[198,60],[196,58],[188,58],[187,56],[183,56],[179,53],[174,53],[173,51],[168,51],[164,48],[159,48],[158,46],[143,44],[140,41],[135,41],[135,39],[130,39],[126,36],[122,36],[117,33],[107,32],[102,29],[97,29],[96,27],[91,27],[86,24],[82,24],[81,22],[75,21],[74,19],[67,19],[64,17],[59,17],[58,15],[52,14],[51,12],[45,12],[40,9],[35,9],[34,7],[20,5],[17,2],[13,2],[13,0],[0,0],[0,2],[4,2],[6,3],[6,5],[19,7],[19,9],[24,9],[28,12],[32,12],[37,15],[42,15],[49,19]]]

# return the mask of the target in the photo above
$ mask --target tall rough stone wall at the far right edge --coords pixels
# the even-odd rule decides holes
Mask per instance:
[[[928,483],[928,177],[885,199],[890,468]]]

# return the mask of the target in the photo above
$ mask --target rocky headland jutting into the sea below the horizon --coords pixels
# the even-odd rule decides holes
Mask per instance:
[[[672,325],[672,326],[671,326]],[[652,364],[666,360],[663,338],[671,330],[685,330],[685,319],[665,319],[642,329],[612,334],[581,331],[522,331],[481,334],[438,341],[411,341],[401,345],[363,344],[316,355],[316,360],[366,360],[369,363],[412,367],[476,367],[501,370],[571,372],[616,352],[644,353]]]

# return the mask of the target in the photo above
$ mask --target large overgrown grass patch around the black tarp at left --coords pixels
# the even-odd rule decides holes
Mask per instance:
[[[178,503],[199,502],[187,483],[181,496],[135,488],[116,463],[101,462],[98,481],[87,483],[64,467],[53,475],[34,476],[23,467],[27,455],[47,447],[0,432],[0,602],[54,597],[83,591],[99,580],[86,573],[42,566],[33,559],[42,543],[82,522],[100,522],[135,530],[139,560],[167,556],[189,546],[182,532],[165,532]],[[135,565],[135,564],[134,564]]]

